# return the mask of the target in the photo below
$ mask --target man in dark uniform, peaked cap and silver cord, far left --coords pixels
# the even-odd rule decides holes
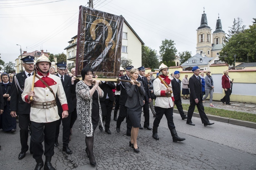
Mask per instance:
[[[16,74],[13,77],[13,83],[11,85],[11,116],[19,116],[19,137],[21,142],[21,152],[18,158],[23,159],[28,151],[28,127],[30,123],[30,103],[26,103],[22,100],[21,94],[24,90],[25,79],[33,75],[34,70],[34,57],[26,56],[21,59],[23,61],[22,66],[25,71]],[[29,151],[33,154],[32,143],[30,141]]]

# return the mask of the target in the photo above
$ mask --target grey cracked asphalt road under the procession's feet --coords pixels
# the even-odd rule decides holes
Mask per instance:
[[[113,119],[113,112],[112,112]],[[144,117],[141,122],[143,125]],[[154,119],[150,117],[152,127]],[[54,149],[52,164],[58,170],[254,170],[256,169],[256,129],[215,122],[204,127],[201,119],[193,117],[195,126],[187,125],[179,114],[174,114],[178,136],[186,138],[183,142],[173,143],[167,128],[165,116],[161,120],[158,135],[152,138],[152,131],[139,130],[138,146],[140,153],[129,147],[130,137],[126,136],[126,123],[121,132],[115,130],[116,122],[111,120],[111,135],[96,129],[94,139],[95,167],[89,164],[85,153],[85,136],[79,132],[78,125],[73,127],[70,149],[73,154],[62,152],[62,132],[59,146]],[[0,131],[0,170],[33,170],[36,162],[27,152],[26,157],[18,160],[21,146],[19,128],[14,134]],[[44,158],[43,158],[44,159]]]

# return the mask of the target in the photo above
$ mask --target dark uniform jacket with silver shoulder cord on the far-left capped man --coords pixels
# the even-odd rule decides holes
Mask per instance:
[[[25,71],[23,71],[13,76],[13,83],[11,83],[10,109],[16,111],[17,114],[30,114],[31,104],[24,102],[21,98],[26,78]]]

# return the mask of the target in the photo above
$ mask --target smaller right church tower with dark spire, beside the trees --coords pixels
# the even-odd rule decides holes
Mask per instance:
[[[222,30],[220,17],[218,17],[216,29],[212,33],[212,57],[219,55],[219,52],[222,50],[223,43],[225,43],[225,34],[225,31]]]

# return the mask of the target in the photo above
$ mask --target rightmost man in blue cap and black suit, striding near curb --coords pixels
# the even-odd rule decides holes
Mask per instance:
[[[200,69],[198,66],[194,66],[192,71],[194,72],[194,74],[188,80],[188,83],[190,85],[190,107],[188,108],[188,119],[186,123],[193,126],[195,125],[194,123],[192,123],[191,119],[193,116],[194,108],[196,106],[198,108],[201,121],[202,123],[204,123],[204,126],[212,125],[214,123],[209,122],[209,119],[204,112],[201,77],[199,76]]]

